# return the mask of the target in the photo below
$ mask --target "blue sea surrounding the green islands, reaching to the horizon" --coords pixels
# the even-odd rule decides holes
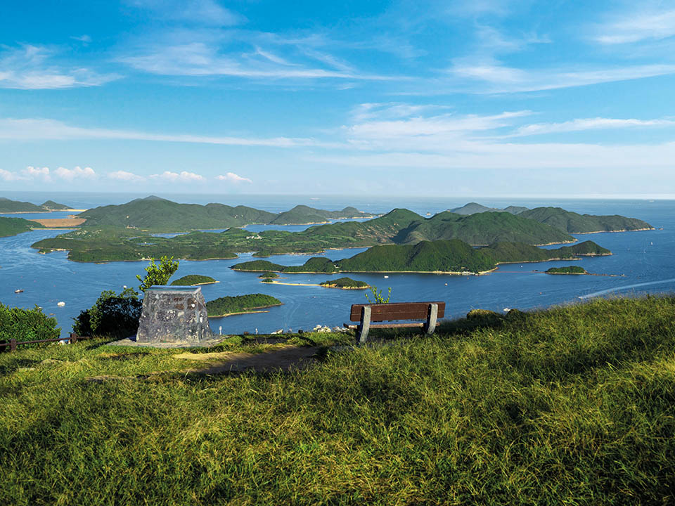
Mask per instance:
[[[99,205],[122,204],[147,195],[113,193],[37,193],[6,192],[13,200],[40,204],[54,200],[75,209]],[[297,204],[321,209],[342,209],[352,205],[365,212],[385,213],[405,207],[427,216],[467,203],[466,199],[425,197],[363,197],[354,195],[184,195],[160,194],[175,202],[227,205],[248,205],[271,212],[281,212]],[[349,277],[363,280],[387,292],[392,289],[392,302],[442,300],[446,317],[464,316],[471,309],[538,309],[555,304],[582,304],[593,297],[659,294],[675,289],[675,201],[673,200],[535,200],[473,199],[491,207],[519,205],[525,207],[557,206],[581,214],[622,214],[647,221],[654,231],[596,233],[577,235],[580,241],[593,240],[610,249],[611,257],[584,258],[574,265],[597,274],[615,276],[546,275],[552,266],[570,265],[570,261],[549,261],[537,264],[504,264],[488,275],[453,276],[435,274],[356,274]],[[26,219],[66,217],[68,212],[49,214],[5,214]],[[306,226],[250,226],[251,231],[278,228],[299,231]],[[0,238],[0,302],[8,306],[41,306],[58,320],[62,335],[70,332],[72,318],[94,304],[103,290],[120,291],[124,285],[138,287],[136,274],[143,275],[147,262],[110,262],[80,264],[68,261],[66,252],[39,254],[30,246],[38,240],[55,237],[61,231],[32,231]],[[557,247],[557,246],[553,246]],[[337,260],[352,257],[364,249],[328,250],[325,256]],[[269,260],[278,264],[303,264],[312,255],[278,255]],[[187,274],[210,275],[219,280],[202,287],[206,300],[225,295],[264,293],[277,297],[283,306],[266,313],[212,318],[214,332],[268,333],[276,330],[310,330],[315,325],[341,326],[349,316],[351,304],[366,301],[364,291],[335,290],[317,286],[269,285],[260,283],[257,273],[236,272],[230,266],[252,259],[242,254],[236,260],[181,261],[175,278]],[[283,275],[284,283],[318,284],[340,275]],[[15,294],[14,290],[22,289]],[[65,306],[57,306],[59,301]]]

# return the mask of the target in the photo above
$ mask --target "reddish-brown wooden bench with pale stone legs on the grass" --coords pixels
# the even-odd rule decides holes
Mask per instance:
[[[356,329],[356,342],[363,344],[371,328],[422,327],[427,334],[436,330],[438,318],[445,316],[445,302],[392,302],[389,304],[352,304],[349,320],[359,325],[345,323],[345,327]],[[397,320],[424,320],[409,323],[373,323]]]

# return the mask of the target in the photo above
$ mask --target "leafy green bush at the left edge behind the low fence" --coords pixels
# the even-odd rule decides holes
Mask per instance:
[[[56,318],[49,318],[39,306],[34,309],[11,308],[0,303],[0,343],[56,339],[61,333]],[[7,349],[7,346],[3,346]]]

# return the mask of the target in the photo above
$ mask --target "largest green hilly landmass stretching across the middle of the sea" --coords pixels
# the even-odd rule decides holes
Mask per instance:
[[[294,209],[301,212],[308,212],[307,209],[317,211],[303,206]],[[473,214],[442,212],[428,219],[408,209],[394,209],[367,221],[328,223],[301,232],[270,230],[251,233],[237,227],[244,223],[270,223],[280,219],[283,213],[273,214],[251,207],[221,204],[176,204],[158,197],[148,197],[122,206],[90,209],[78,215],[86,218],[81,229],[35,242],[32,247],[42,253],[68,250],[68,258],[73,261],[142,260],[163,255],[177,259],[206,260],[233,259],[241,252],[269,257],[274,254],[320,253],[331,248],[416,245],[422,241],[438,240],[461,240],[474,246],[506,242],[533,246],[564,244],[576,241],[570,231],[585,233],[595,229],[619,231],[653,228],[649,223],[624,216],[581,215],[556,207],[525,211],[522,210],[524,208],[515,209],[517,213],[513,209],[513,212]],[[345,208],[335,213],[349,215],[355,211],[354,208]],[[224,219],[224,216],[229,218]],[[293,218],[290,220],[295,221]],[[110,223],[116,223],[116,226]],[[174,238],[157,237],[145,231],[181,231],[198,226],[230,228],[221,233],[192,231]]]

